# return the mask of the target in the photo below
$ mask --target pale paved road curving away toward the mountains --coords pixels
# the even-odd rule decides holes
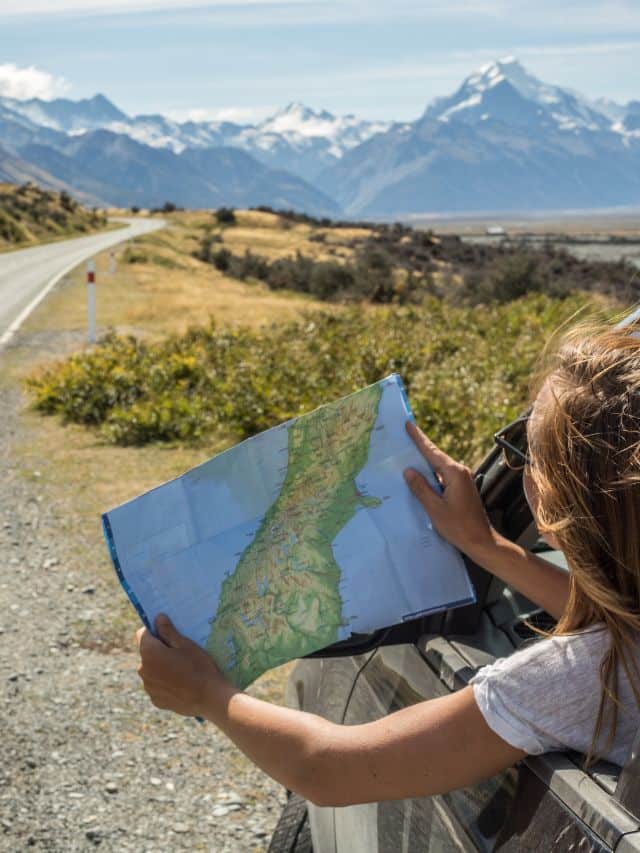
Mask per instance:
[[[162,219],[122,219],[126,228],[0,253],[0,349],[60,279],[87,258],[157,231]]]

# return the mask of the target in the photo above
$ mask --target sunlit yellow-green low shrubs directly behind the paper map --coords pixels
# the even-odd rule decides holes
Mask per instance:
[[[314,313],[260,331],[211,324],[158,343],[106,337],[32,376],[35,407],[116,444],[245,438],[391,372],[419,423],[469,461],[527,397],[549,334],[584,297]]]

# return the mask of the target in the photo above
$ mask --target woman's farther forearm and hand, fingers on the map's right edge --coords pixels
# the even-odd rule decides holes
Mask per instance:
[[[567,573],[500,536],[489,524],[471,471],[436,447],[415,424],[408,422],[407,432],[443,486],[439,495],[417,471],[405,472],[411,491],[438,533],[474,563],[559,619],[569,596]]]

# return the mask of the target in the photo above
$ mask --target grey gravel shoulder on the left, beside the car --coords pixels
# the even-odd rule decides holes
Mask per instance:
[[[24,470],[24,405],[0,383],[0,850],[266,849],[280,786],[213,726],[153,708],[132,651],[87,642],[123,593],[92,576],[103,546],[68,496]]]

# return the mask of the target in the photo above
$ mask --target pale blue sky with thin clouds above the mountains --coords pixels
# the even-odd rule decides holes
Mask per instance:
[[[129,113],[243,119],[303,101],[412,119],[506,55],[640,99],[640,2],[0,0],[0,93],[103,92]]]

